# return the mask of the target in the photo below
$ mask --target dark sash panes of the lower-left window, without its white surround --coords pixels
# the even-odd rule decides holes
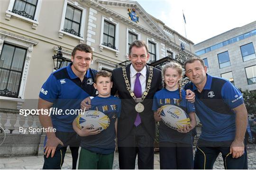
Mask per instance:
[[[4,44],[0,54],[0,95],[18,98],[27,49]]]

